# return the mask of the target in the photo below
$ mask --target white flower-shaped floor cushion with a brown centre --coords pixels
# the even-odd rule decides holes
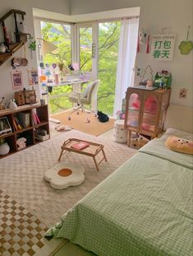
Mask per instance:
[[[44,179],[53,189],[67,189],[77,186],[85,180],[85,168],[82,165],[59,163],[46,171]]]

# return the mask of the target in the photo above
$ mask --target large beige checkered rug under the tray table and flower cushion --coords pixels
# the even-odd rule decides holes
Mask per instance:
[[[96,171],[91,157],[68,152],[62,156],[62,161],[84,165],[85,181],[76,187],[54,190],[44,181],[44,173],[57,164],[62,142],[70,137],[103,144],[108,162],[103,161],[100,171]],[[135,149],[116,142],[71,130],[1,159],[0,188],[49,227],[135,153]]]

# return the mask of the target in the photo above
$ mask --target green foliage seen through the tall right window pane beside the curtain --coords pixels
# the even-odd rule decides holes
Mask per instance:
[[[107,114],[113,114],[120,27],[120,21],[99,24],[98,109]]]

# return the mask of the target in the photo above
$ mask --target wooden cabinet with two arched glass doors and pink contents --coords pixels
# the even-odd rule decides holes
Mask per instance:
[[[125,128],[129,132],[128,146],[132,132],[153,138],[162,131],[170,94],[171,89],[147,91],[128,87],[125,117]]]

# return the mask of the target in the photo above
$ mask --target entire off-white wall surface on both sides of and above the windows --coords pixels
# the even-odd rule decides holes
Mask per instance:
[[[70,9],[71,2],[71,9]],[[177,105],[193,105],[193,50],[191,54],[180,54],[177,46],[182,40],[186,40],[187,26],[191,26],[189,40],[193,40],[193,1],[192,0],[1,0],[0,16],[3,16],[9,9],[21,9],[27,12],[25,17],[27,30],[34,35],[32,7],[48,10],[51,12],[59,12],[62,14],[72,15],[84,14],[90,12],[102,12],[124,7],[140,7],[140,27],[149,30],[150,34],[159,34],[162,26],[169,26],[172,33],[177,34],[177,42],[172,62],[156,63],[151,60],[150,54],[145,54],[145,49],[140,49],[137,54],[136,65],[145,69],[150,64],[157,70],[166,69],[172,72],[172,97],[171,102]],[[52,16],[50,16],[52,18]],[[0,36],[1,40],[1,36]],[[27,49],[28,46],[26,46]],[[22,49],[16,52],[15,56],[23,56]],[[27,53],[29,59],[29,67],[36,67],[35,54],[33,59],[30,59],[30,51]],[[24,81],[27,83],[26,68],[23,67]],[[14,91],[11,88],[11,65],[10,59],[0,66],[0,97],[5,95],[11,98]],[[180,88],[185,87],[188,90],[186,99],[179,99]]]

